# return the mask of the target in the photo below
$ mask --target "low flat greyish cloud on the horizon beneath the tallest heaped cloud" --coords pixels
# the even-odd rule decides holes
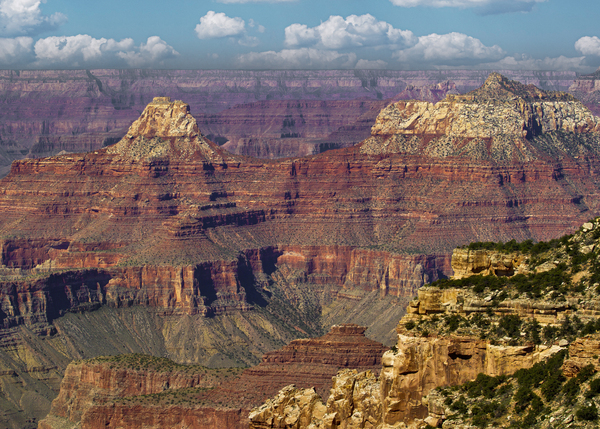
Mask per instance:
[[[284,49],[239,55],[238,63],[241,68],[253,69],[346,69],[354,67],[356,54],[314,48]]]

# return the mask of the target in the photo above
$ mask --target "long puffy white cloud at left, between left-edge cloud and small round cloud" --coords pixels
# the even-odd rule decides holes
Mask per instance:
[[[129,66],[162,65],[178,55],[158,36],[149,37],[136,47],[133,39],[95,39],[87,34],[52,36],[40,39],[34,46],[36,65],[40,67],[81,67],[83,65],[113,64],[125,61]]]

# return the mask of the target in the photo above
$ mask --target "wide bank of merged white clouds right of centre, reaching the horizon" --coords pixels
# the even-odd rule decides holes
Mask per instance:
[[[506,56],[499,46],[486,46],[466,34],[417,37],[370,14],[334,15],[315,27],[289,25],[284,44],[289,49],[240,55],[238,64],[247,68],[415,69],[466,67]]]

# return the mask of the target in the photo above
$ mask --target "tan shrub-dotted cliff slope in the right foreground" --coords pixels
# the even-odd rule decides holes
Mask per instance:
[[[287,387],[250,427],[594,427],[599,240],[596,218],[548,243],[457,249],[462,278],[419,290],[378,379],[338,373],[327,403]]]

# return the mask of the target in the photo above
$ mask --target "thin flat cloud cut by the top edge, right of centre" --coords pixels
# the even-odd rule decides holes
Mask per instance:
[[[529,12],[536,3],[547,0],[390,0],[401,7],[457,7],[476,8],[483,14]]]

